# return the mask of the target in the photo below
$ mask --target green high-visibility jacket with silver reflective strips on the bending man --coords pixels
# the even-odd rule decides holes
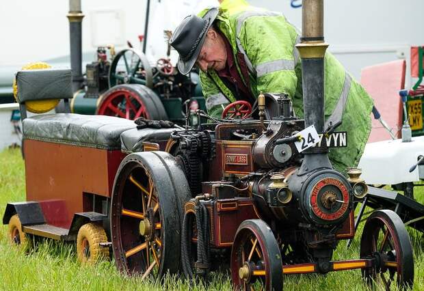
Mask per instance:
[[[300,31],[282,14],[254,8],[243,0],[224,1],[215,24],[233,48],[242,79],[237,53],[243,55],[252,94],[288,94],[295,114],[303,117],[302,66],[295,48]],[[371,131],[373,100],[331,53],[326,53],[324,66],[326,123],[341,118],[343,123],[336,130],[347,131],[347,148],[332,149],[329,156],[334,167],[344,172],[346,167],[356,167],[362,156]],[[200,83],[209,115],[220,116],[236,100],[215,70],[200,72]]]

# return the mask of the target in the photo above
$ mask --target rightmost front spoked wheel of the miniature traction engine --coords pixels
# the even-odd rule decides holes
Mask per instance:
[[[412,288],[412,245],[405,225],[392,210],[377,210],[369,216],[360,241],[360,258],[375,262],[372,268],[362,270],[369,286],[380,281],[386,290],[393,282],[400,288]]]

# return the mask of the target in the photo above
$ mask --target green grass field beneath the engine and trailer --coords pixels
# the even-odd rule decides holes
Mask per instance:
[[[424,193],[419,191],[416,191],[416,198],[424,202]],[[18,201],[25,201],[24,163],[20,150],[5,150],[0,152],[1,217],[8,202]],[[75,245],[51,240],[40,243],[36,249],[25,253],[10,245],[7,230],[8,225],[0,226],[0,290],[231,290],[230,280],[226,275],[215,275],[209,283],[190,286],[187,281],[178,277],[167,277],[163,284],[126,277],[116,271],[114,262],[81,265],[76,260]],[[334,260],[358,258],[360,232],[359,230],[349,249],[344,242],[339,245]],[[414,230],[409,232],[414,247],[414,290],[424,290],[422,234]],[[347,291],[367,288],[362,283],[360,271],[343,271],[325,276],[286,276],[284,290]]]

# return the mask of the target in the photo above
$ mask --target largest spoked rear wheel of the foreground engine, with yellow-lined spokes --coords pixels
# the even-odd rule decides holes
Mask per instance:
[[[111,198],[111,237],[120,271],[162,277],[180,262],[188,182],[164,152],[130,154],[122,161]]]

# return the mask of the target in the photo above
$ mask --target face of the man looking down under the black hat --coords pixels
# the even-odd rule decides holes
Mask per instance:
[[[223,70],[226,66],[227,52],[224,40],[216,31],[210,29],[207,38],[204,40],[196,64],[200,70]]]

